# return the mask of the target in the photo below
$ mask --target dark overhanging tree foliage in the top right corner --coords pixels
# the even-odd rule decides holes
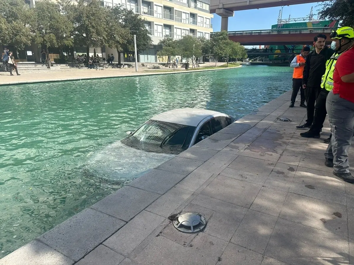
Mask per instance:
[[[331,0],[320,4],[320,6],[321,19],[339,20],[342,27],[354,27],[353,0]]]

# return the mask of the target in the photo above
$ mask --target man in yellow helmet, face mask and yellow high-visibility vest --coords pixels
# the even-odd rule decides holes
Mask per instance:
[[[336,39],[341,40],[342,31],[344,30],[346,33],[349,34],[349,36],[354,36],[354,30],[349,27],[342,27],[337,29],[336,31],[333,31],[331,33],[331,38],[333,39],[333,42],[331,44],[331,48],[335,50],[335,53],[332,55],[332,57],[326,62],[326,72],[322,76],[322,83],[321,83],[321,92],[318,95],[316,99],[316,105],[315,105],[315,115],[313,119],[313,123],[311,125],[311,128],[305,132],[301,133],[300,135],[302,137],[308,137],[308,138],[320,138],[320,131],[323,127],[323,123],[326,119],[326,98],[328,93],[333,89],[333,72],[335,69],[336,62],[339,58],[339,56],[346,51],[350,46],[352,46],[352,40],[350,38],[344,37],[346,39],[345,44],[343,45],[337,45],[336,46]],[[339,42],[339,44],[341,44]]]

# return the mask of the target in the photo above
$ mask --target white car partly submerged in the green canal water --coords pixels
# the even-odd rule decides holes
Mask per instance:
[[[227,114],[181,108],[154,116],[89,158],[91,173],[126,181],[164,163],[233,122]]]

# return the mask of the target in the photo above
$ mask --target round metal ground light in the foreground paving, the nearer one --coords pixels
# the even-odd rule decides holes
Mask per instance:
[[[181,213],[173,218],[173,226],[183,233],[195,233],[205,228],[206,219],[195,212]]]

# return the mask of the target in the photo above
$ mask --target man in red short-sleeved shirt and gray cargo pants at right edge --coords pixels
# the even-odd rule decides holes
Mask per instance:
[[[354,43],[352,33],[335,39],[336,46]],[[343,33],[344,34],[344,33]],[[334,45],[334,44],[333,44]],[[339,56],[333,73],[333,90],[328,94],[326,109],[331,125],[332,139],[325,153],[326,166],[333,166],[333,174],[354,183],[349,172],[348,151],[354,133],[354,47]],[[330,163],[331,160],[333,163]]]

